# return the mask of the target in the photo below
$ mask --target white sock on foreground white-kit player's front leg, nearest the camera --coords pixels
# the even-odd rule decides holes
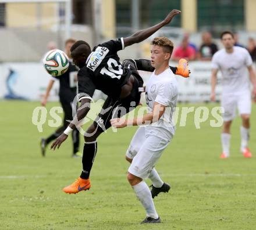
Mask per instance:
[[[145,181],[141,181],[140,183],[132,187],[138,200],[140,200],[140,203],[146,210],[147,216],[157,219],[158,214],[157,211],[155,210],[155,205],[151,196],[150,189],[148,188],[148,185],[145,183]]]

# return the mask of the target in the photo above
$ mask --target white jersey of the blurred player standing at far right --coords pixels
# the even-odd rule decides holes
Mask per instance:
[[[234,46],[233,53],[221,49],[212,57],[212,68],[222,72],[222,93],[240,93],[250,90],[247,67],[253,64],[244,48]]]

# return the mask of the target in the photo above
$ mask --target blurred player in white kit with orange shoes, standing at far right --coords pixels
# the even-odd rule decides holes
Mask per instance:
[[[253,98],[256,96],[256,78],[253,70],[253,61],[250,54],[244,48],[234,46],[234,35],[225,31],[221,35],[224,48],[219,50],[212,57],[211,76],[211,100],[215,101],[215,86],[217,82],[217,72],[222,72],[222,98],[221,105],[224,108],[223,131],[221,134],[222,154],[221,158],[229,157],[230,147],[230,126],[236,117],[236,108],[242,119],[240,127],[241,133],[241,153],[245,158],[251,158],[248,148],[250,134],[250,114],[251,114],[251,90],[250,81],[253,85]],[[250,81],[247,76],[249,72]]]

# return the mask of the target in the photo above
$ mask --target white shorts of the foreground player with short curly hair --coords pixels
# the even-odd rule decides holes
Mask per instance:
[[[165,129],[139,127],[126,152],[127,158],[133,159],[129,173],[147,178],[170,140],[172,134]]]

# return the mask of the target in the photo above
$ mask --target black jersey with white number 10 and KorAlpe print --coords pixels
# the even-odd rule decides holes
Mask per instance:
[[[121,87],[131,75],[129,68],[122,67],[117,54],[124,48],[123,38],[94,47],[86,65],[78,72],[79,100],[92,98],[95,89],[113,98],[120,96]]]

